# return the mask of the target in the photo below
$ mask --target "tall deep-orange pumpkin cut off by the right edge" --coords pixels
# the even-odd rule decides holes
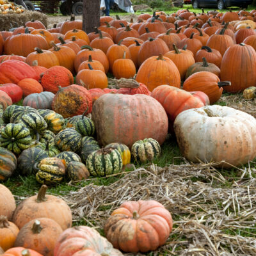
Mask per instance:
[[[250,45],[232,45],[222,58],[220,70],[221,81],[231,82],[231,86],[223,87],[227,92],[241,92],[245,88],[255,86],[255,50]]]

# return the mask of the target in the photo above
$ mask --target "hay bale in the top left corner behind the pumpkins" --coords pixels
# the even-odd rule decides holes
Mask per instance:
[[[24,13],[0,14],[0,31],[24,26],[29,20],[40,20],[47,28],[47,15],[40,12],[25,11]]]

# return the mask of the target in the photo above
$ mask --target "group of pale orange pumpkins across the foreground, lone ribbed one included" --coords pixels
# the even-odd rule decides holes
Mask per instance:
[[[16,207],[11,191],[0,184],[0,255],[118,256],[123,255],[119,250],[148,252],[163,245],[172,232],[172,216],[162,204],[127,201],[106,220],[107,240],[93,228],[72,228],[68,205],[46,191],[43,185],[38,195]]]

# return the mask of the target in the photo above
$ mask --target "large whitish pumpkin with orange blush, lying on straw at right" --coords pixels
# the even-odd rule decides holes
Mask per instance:
[[[243,111],[218,105],[180,113],[174,130],[180,151],[189,161],[220,162],[229,168],[256,157],[256,119]]]

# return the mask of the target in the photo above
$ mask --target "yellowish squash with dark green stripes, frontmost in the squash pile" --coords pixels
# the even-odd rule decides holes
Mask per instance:
[[[36,180],[41,184],[52,185],[61,182],[65,177],[65,166],[56,157],[47,157],[36,166]]]

